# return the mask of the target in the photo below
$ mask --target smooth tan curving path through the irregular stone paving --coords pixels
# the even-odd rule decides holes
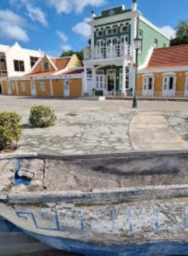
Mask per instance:
[[[139,112],[130,123],[133,150],[187,150],[188,143],[167,121],[164,112]]]

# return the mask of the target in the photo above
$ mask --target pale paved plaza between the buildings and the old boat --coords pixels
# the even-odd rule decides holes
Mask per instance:
[[[30,127],[30,107],[39,104],[54,108],[58,117],[55,126]],[[134,110],[126,100],[0,96],[0,110],[12,110],[23,117],[17,152],[45,154],[188,149],[187,106],[187,102],[141,101]]]

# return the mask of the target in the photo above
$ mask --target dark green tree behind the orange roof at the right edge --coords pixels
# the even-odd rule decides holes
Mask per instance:
[[[171,39],[171,46],[181,44],[188,44],[188,23],[186,21],[179,22],[175,38]]]

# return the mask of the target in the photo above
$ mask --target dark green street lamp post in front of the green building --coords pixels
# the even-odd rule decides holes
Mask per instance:
[[[137,29],[137,36],[134,39],[134,49],[136,49],[136,77],[135,77],[135,91],[134,91],[134,98],[133,98],[133,108],[138,107],[138,100],[137,100],[137,75],[138,75],[138,51],[141,49],[142,46],[142,38],[139,36],[139,31]]]

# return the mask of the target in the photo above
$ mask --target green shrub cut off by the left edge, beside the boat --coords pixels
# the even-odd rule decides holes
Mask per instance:
[[[0,150],[5,150],[14,143],[17,146],[21,133],[21,116],[14,112],[0,112]]]

